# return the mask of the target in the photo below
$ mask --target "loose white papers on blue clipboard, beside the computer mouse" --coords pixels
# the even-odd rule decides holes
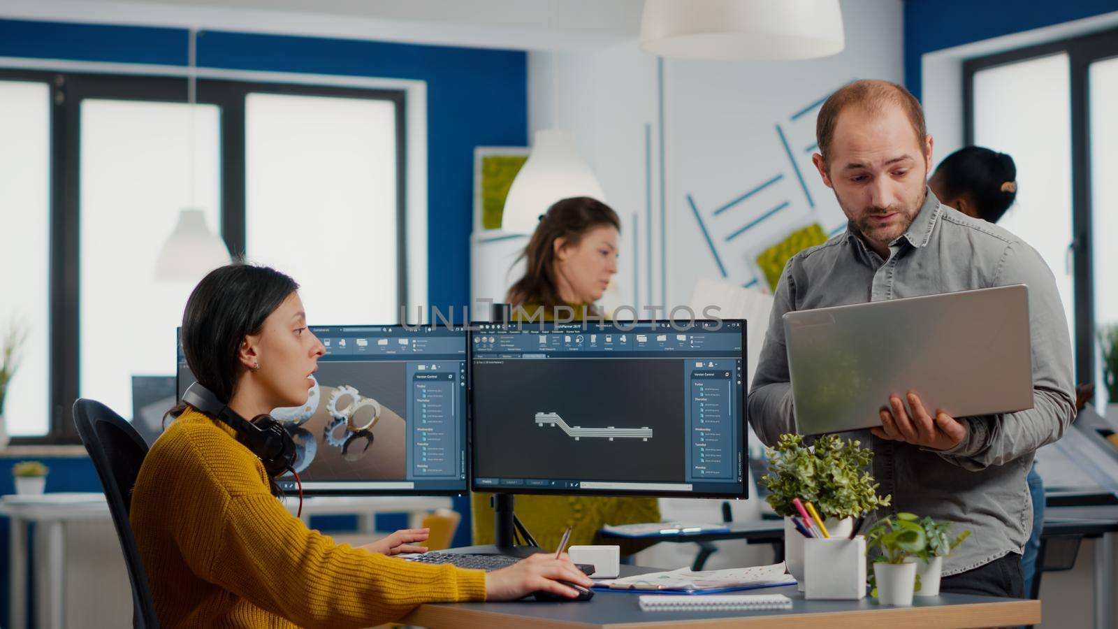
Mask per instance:
[[[622,579],[596,581],[595,588],[631,590],[635,592],[663,592],[679,594],[712,594],[733,590],[795,585],[796,578],[785,573],[784,562],[752,567],[707,570],[692,572],[681,567],[667,572],[651,572]]]

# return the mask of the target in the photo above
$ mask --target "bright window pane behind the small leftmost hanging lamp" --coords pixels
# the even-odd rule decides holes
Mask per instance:
[[[132,376],[174,373],[174,328],[201,279],[155,281],[160,248],[183,208],[220,224],[219,110],[86,98],[80,119],[79,391],[131,417]]]

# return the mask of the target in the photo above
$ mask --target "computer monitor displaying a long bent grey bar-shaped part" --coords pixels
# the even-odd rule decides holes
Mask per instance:
[[[475,491],[748,497],[745,321],[475,323],[470,337]]]

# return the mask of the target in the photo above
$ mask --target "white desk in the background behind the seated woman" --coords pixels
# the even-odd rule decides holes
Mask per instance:
[[[299,499],[284,501],[292,514],[299,508]],[[417,526],[427,511],[451,508],[449,497],[410,496],[339,496],[313,497],[303,500],[304,523],[312,515],[358,514],[362,532],[372,533],[377,514],[407,513],[409,526]],[[65,627],[64,584],[66,570],[66,525],[73,522],[108,520],[108,505],[104,494],[44,494],[41,496],[6,496],[0,499],[0,517],[11,519],[8,537],[8,599],[10,605],[9,625],[13,629],[27,627],[27,579],[28,579],[28,525],[35,523],[39,534],[46,539],[46,562],[44,572],[46,592],[36,597],[37,618],[40,627],[61,629]]]

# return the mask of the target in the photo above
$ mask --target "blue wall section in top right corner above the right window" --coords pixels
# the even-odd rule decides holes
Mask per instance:
[[[904,86],[920,97],[927,53],[1110,11],[1118,0],[904,0]]]

